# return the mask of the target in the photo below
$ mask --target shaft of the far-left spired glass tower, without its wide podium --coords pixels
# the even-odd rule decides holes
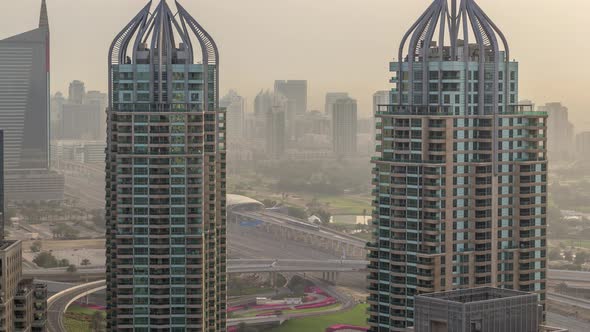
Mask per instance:
[[[45,0],[39,27],[0,40],[0,129],[5,165],[49,165],[49,21]]]

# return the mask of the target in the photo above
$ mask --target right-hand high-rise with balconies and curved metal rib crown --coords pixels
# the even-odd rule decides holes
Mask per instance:
[[[504,35],[474,0],[435,0],[398,59],[377,113],[371,331],[412,326],[422,293],[491,286],[544,303],[547,114],[515,105]]]

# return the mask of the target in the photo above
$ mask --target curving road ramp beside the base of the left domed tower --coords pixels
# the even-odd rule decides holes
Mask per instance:
[[[104,280],[78,285],[59,292],[47,300],[47,331],[66,331],[63,317],[68,307],[76,300],[106,288]]]

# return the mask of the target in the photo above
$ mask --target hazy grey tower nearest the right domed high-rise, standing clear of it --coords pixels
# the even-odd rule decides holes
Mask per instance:
[[[357,152],[358,115],[356,100],[338,99],[332,110],[332,147],[336,155]]]

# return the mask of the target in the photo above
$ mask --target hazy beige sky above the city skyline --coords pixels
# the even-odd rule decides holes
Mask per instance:
[[[107,50],[146,0],[47,0],[52,33],[52,92],[74,79],[106,90]],[[156,1],[156,0],[154,0]],[[171,0],[169,0],[172,2]],[[0,38],[38,22],[41,0],[0,0]],[[403,33],[431,0],[184,0],[216,40],[221,89],[251,106],[275,79],[307,79],[310,108],[329,91],[347,91],[371,112],[388,89],[388,62]],[[521,99],[562,101],[577,129],[590,130],[590,1],[480,0],[520,62]],[[577,64],[577,65],[576,65]]]

